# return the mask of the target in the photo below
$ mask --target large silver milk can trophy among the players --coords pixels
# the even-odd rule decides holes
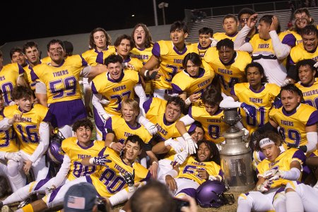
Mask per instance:
[[[243,141],[244,132],[235,124],[240,121],[237,108],[223,108],[223,122],[230,125],[223,134],[225,144],[220,150],[221,167],[225,184],[234,192],[246,192],[254,188],[252,151],[249,143]]]

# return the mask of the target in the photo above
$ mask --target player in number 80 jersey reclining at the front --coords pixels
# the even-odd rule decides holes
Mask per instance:
[[[112,148],[103,148],[100,152],[102,156],[82,160],[83,165],[98,165],[93,175],[74,179],[59,189],[55,189],[54,192],[42,199],[21,208],[18,212],[30,210],[37,212],[55,206],[62,206],[64,195],[69,187],[80,182],[90,182],[93,184],[100,196],[110,197],[112,206],[126,201],[128,199],[128,192],[125,189],[127,184],[123,175],[127,173],[133,175],[134,182],[148,181],[151,177],[150,172],[136,162],[136,158],[141,154],[142,148],[143,141],[136,135],[127,138],[124,153],[121,156],[113,151]],[[123,189],[125,189],[124,192],[116,195]]]

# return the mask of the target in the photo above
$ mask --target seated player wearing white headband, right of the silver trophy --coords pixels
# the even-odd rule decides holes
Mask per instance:
[[[286,210],[284,186],[298,180],[305,163],[305,154],[297,148],[281,152],[283,140],[272,131],[265,131],[257,141],[257,150],[266,158],[257,165],[258,181],[254,191],[240,194],[237,211],[290,211]],[[295,192],[294,192],[295,194]],[[293,194],[292,194],[293,195]],[[297,195],[297,194],[296,194]],[[287,197],[287,194],[286,194]],[[302,205],[293,211],[302,211]]]

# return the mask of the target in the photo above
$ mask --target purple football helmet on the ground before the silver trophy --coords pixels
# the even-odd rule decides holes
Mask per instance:
[[[233,194],[223,194],[228,187],[218,180],[207,180],[196,189],[196,202],[202,208],[219,208],[225,204],[233,204]]]

